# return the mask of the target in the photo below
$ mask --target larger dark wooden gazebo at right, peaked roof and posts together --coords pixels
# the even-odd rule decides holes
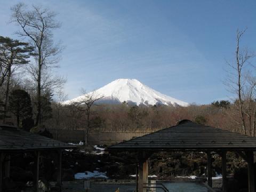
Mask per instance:
[[[138,192],[146,191],[148,183],[148,158],[157,151],[204,151],[207,154],[207,184],[212,186],[211,152],[222,157],[222,191],[227,191],[226,153],[235,151],[247,162],[249,192],[255,191],[254,157],[256,138],[211,126],[191,122],[187,119],[177,125],[110,146],[109,151],[138,152]]]

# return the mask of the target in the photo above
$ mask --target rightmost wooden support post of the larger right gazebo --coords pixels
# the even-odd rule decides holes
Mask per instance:
[[[254,192],[255,191],[255,174],[254,174],[254,157],[253,151],[246,152],[247,155],[247,169],[248,169],[248,191]]]

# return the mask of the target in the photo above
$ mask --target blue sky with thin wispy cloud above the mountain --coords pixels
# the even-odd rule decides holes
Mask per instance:
[[[0,35],[15,38],[10,9],[0,0]],[[256,1],[33,1],[58,13],[54,31],[65,45],[59,74],[69,99],[117,78],[143,84],[189,103],[231,97],[223,85],[235,34],[256,51]]]

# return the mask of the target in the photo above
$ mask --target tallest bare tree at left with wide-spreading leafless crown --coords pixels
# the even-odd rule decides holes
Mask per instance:
[[[36,65],[28,68],[29,73],[34,77],[37,88],[37,114],[35,125],[41,126],[41,91],[42,73],[46,69],[57,67],[61,47],[54,45],[52,30],[60,27],[60,23],[55,21],[56,13],[41,6],[33,6],[27,11],[25,5],[19,3],[11,8],[12,22],[17,23],[21,30],[17,34],[30,40],[30,44],[35,47],[34,58]]]

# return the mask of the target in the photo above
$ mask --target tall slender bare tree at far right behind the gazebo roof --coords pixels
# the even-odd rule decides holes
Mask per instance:
[[[240,43],[245,31],[246,29],[243,31],[237,29],[235,62],[228,63],[231,71],[227,85],[229,86],[229,90],[237,96],[235,103],[238,105],[242,130],[244,134],[251,134],[252,121],[255,121],[252,119],[253,116],[251,115],[252,107],[255,102],[255,81],[252,81],[253,76],[249,72],[249,68],[253,66],[250,61],[255,57],[255,54],[251,53],[247,48],[241,49]]]

